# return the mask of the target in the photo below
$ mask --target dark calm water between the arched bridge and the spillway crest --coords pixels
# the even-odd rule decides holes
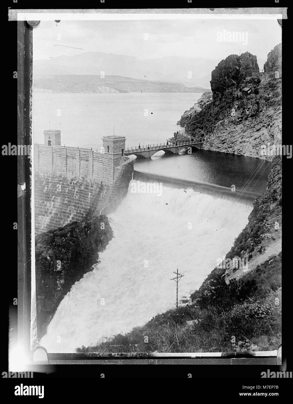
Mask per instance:
[[[197,185],[197,190],[217,185],[209,187],[211,192],[208,193],[211,194],[227,191],[229,195],[235,185],[235,195],[252,202],[266,189],[271,163],[235,154],[198,150],[192,155],[136,159],[134,169],[135,178],[145,181],[159,181],[162,177],[178,187],[194,188]]]

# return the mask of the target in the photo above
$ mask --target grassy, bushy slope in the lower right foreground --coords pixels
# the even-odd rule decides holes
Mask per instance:
[[[217,352],[274,350],[281,343],[281,255],[227,285],[218,273],[195,304],[169,310],[142,327],[77,352]],[[191,326],[188,320],[196,320]]]

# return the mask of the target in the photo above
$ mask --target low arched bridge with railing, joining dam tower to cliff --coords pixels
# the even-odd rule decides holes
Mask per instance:
[[[164,151],[166,154],[178,154],[181,149],[184,147],[191,147],[192,149],[201,149],[203,145],[203,141],[198,141],[195,139],[188,139],[184,141],[175,141],[175,143],[170,143],[167,141],[167,143],[160,143],[160,144],[153,144],[153,145],[146,145],[146,146],[141,146],[139,145],[138,147],[129,147],[128,149],[125,149],[124,155],[125,156],[130,156],[131,154],[134,154],[135,156],[139,157],[144,157],[144,158],[150,158],[152,157],[155,153],[158,151]]]

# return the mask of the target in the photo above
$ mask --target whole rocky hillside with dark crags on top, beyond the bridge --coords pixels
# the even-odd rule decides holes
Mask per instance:
[[[246,52],[230,55],[211,74],[213,99],[179,120],[192,136],[204,137],[203,149],[272,160],[261,145],[282,138],[281,44],[269,53],[264,72]],[[243,136],[245,134],[245,136]]]

